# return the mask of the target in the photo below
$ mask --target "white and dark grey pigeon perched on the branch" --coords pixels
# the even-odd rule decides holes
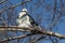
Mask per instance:
[[[38,24],[34,20],[34,18],[28,14],[27,9],[23,9],[18,14],[16,19],[18,27],[35,27]]]

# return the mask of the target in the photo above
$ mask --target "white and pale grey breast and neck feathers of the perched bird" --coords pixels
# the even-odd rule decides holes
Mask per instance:
[[[18,18],[16,19],[18,27],[30,27],[30,22],[29,22],[29,16],[24,16],[23,18],[21,18],[23,15],[25,15],[26,12],[21,12],[18,15]]]

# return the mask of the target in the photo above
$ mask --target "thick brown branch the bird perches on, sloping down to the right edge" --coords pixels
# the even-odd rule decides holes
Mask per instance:
[[[35,29],[35,28],[25,28],[25,27],[16,27],[16,26],[0,26],[0,29],[2,28],[16,28],[17,29],[24,29],[24,30],[30,30],[30,32],[36,32],[36,33],[39,33],[39,34],[47,34],[47,35],[52,35],[52,37],[56,37],[56,38],[60,38],[60,39],[65,39],[65,34],[60,34],[60,33],[56,33],[56,32],[52,32],[52,31],[46,31],[43,29]],[[12,29],[13,30],[13,29]]]

